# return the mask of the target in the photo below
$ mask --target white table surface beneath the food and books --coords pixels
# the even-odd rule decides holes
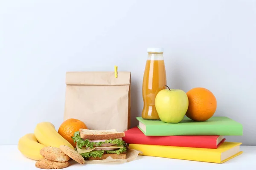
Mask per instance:
[[[256,170],[256,146],[241,146],[241,155],[223,163],[138,156],[124,164],[71,164],[64,170]],[[0,170],[40,170],[34,160],[24,157],[16,145],[0,146]]]

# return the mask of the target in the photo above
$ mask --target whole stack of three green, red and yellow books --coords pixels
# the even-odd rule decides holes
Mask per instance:
[[[144,156],[224,163],[242,153],[240,142],[224,136],[242,136],[243,127],[228,117],[213,116],[204,122],[184,117],[180,123],[165,123],[137,117],[139,125],[125,131],[131,149]]]

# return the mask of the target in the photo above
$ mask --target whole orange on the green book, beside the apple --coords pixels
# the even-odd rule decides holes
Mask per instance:
[[[187,93],[189,107],[186,116],[194,121],[206,121],[216,111],[217,100],[206,88],[192,88]]]

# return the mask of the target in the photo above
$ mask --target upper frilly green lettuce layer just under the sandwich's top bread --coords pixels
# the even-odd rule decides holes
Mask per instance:
[[[71,137],[74,141],[74,143],[76,143],[76,145],[81,149],[83,146],[88,147],[88,148],[93,148],[93,145],[96,146],[101,146],[102,144],[107,144],[107,143],[111,143],[111,144],[117,144],[117,145],[125,145],[125,141],[120,140],[120,139],[107,139],[105,140],[105,142],[89,142],[88,139],[82,139],[80,137],[80,133],[79,131],[74,133],[74,136]]]

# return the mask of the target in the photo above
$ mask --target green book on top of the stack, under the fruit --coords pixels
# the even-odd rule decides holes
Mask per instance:
[[[212,116],[204,122],[195,122],[185,116],[179,123],[165,123],[161,120],[146,120],[142,117],[136,118],[139,121],[138,127],[145,136],[243,135],[243,126],[224,116]]]

